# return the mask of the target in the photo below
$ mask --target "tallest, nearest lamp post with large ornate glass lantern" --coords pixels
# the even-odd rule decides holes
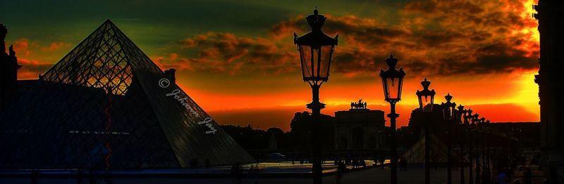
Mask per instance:
[[[331,57],[335,46],[338,43],[338,34],[331,38],[321,31],[321,26],[326,17],[320,15],[317,7],[313,15],[308,15],[307,23],[312,27],[312,31],[301,37],[294,33],[294,44],[300,51],[300,61],[302,65],[302,77],[312,87],[312,103],[307,104],[307,108],[312,110],[312,178],[313,183],[321,183],[321,141],[319,140],[321,109],[325,104],[319,102],[319,87],[329,79],[329,68],[331,67]]]

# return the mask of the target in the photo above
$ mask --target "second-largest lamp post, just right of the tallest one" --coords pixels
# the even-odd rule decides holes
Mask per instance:
[[[403,77],[405,77],[405,72],[403,68],[396,70],[396,64],[398,64],[398,58],[394,58],[393,54],[390,53],[390,57],[386,59],[386,65],[388,65],[388,70],[384,71],[380,69],[380,77],[382,78],[382,87],[384,88],[384,100],[390,103],[390,128],[391,128],[391,138],[390,138],[390,165],[391,165],[391,182],[392,184],[398,183],[398,156],[396,155],[396,118],[400,117],[400,114],[396,114],[396,103],[401,100],[401,88],[403,85]]]

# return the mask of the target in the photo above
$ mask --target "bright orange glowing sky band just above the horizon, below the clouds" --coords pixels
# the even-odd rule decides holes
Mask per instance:
[[[509,75],[491,74],[450,80],[429,77],[429,80],[432,82],[431,88],[437,91],[436,103],[443,102],[444,96],[449,92],[454,96],[455,103],[470,107],[474,112],[494,122],[539,121],[538,87],[532,81],[534,73],[522,71]],[[368,102],[369,109],[384,110],[388,113],[389,105],[384,101],[381,83],[376,79],[378,78],[374,77],[374,81],[366,84],[336,85],[331,84],[331,80],[323,84],[321,101],[327,107],[321,112],[334,115],[338,110],[348,110],[351,101],[362,98]],[[411,110],[417,107],[415,91],[422,88],[420,81],[421,79],[408,79],[405,82],[403,100],[397,106],[400,114],[398,127],[407,125]],[[261,129],[278,126],[288,130],[293,112],[309,111],[305,104],[311,101],[311,89],[305,83],[302,83],[301,87],[302,89],[291,92],[283,91],[262,96],[224,95],[213,91],[183,88],[219,122],[252,124]]]

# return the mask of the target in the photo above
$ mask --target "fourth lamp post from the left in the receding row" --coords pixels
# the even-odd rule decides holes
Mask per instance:
[[[441,103],[441,107],[443,107],[443,119],[446,121],[446,183],[450,184],[453,183],[452,178],[452,161],[450,159],[450,150],[451,150],[451,140],[450,135],[452,134],[452,124],[453,124],[453,117],[455,116],[456,111],[456,103],[451,103],[450,100],[453,99],[453,96],[450,96],[450,93],[446,93],[445,100],[446,103]],[[427,140],[426,140],[427,141]]]

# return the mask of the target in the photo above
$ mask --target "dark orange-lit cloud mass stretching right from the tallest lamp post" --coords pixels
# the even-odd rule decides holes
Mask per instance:
[[[520,33],[534,21],[521,16],[523,8],[515,1],[414,1],[403,9],[399,24],[328,16],[325,30],[338,32],[344,42],[335,53],[336,72],[373,72],[384,67],[381,61],[390,51],[401,55],[399,65],[416,73],[512,72],[537,67],[538,43],[532,33]],[[306,31],[304,24],[298,17],[271,30],[282,37],[290,30]]]

